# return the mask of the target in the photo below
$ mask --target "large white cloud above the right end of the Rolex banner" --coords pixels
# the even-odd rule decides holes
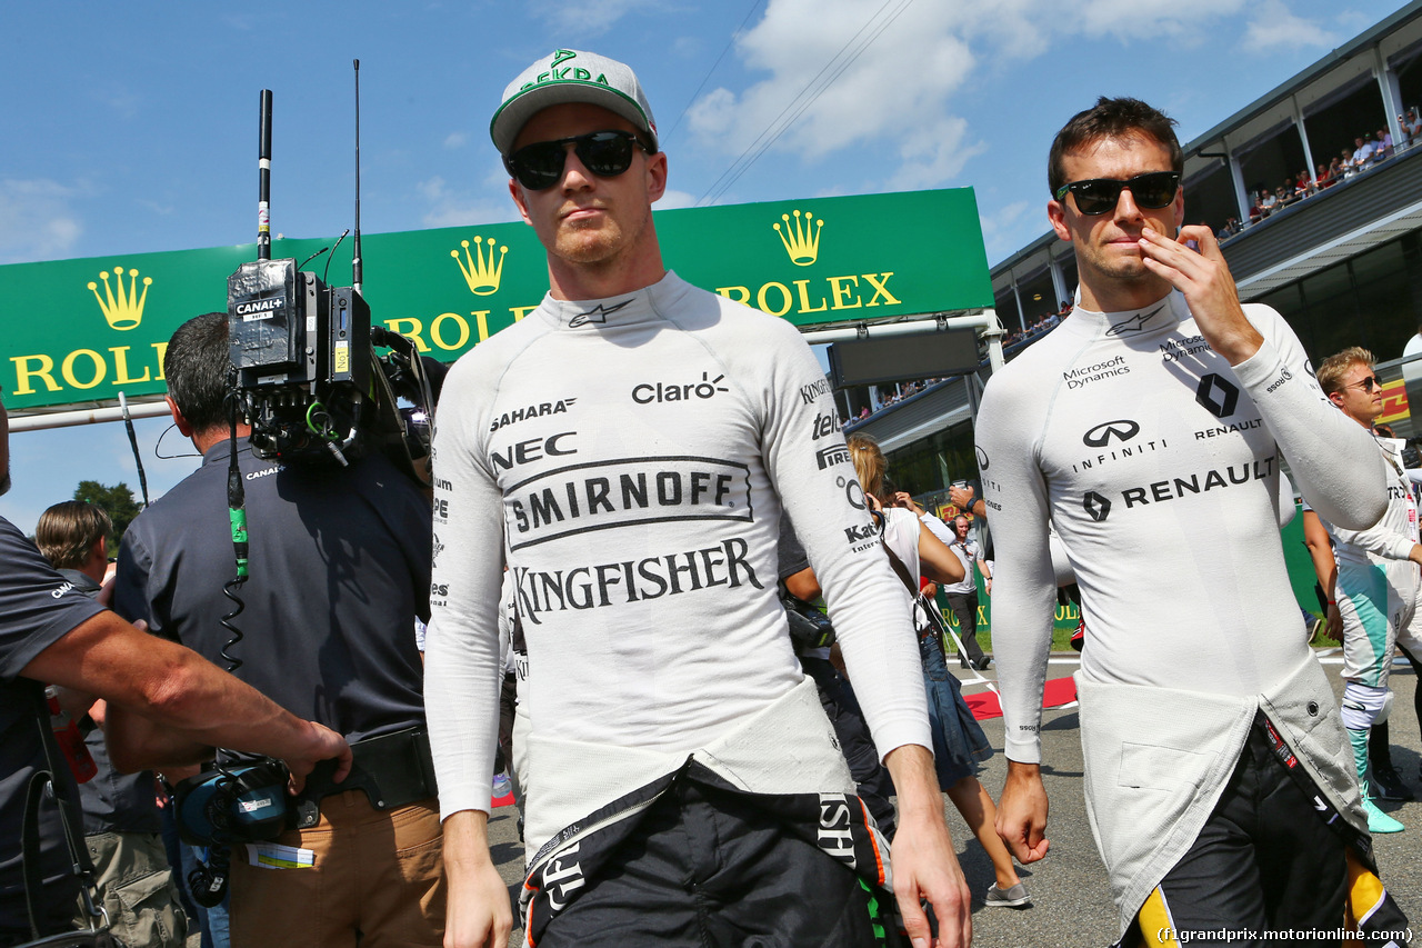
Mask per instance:
[[[1044,56],[1103,80],[1165,68],[1170,50],[1213,40],[1246,9],[1246,0],[769,0],[735,46],[762,78],[704,94],[688,124],[732,161],[765,149],[816,162],[887,145],[897,165],[875,186],[941,186],[994,131],[957,114],[977,73],[1021,71]],[[1082,40],[1096,40],[1095,50]],[[1153,48],[1165,58],[1152,60]]]

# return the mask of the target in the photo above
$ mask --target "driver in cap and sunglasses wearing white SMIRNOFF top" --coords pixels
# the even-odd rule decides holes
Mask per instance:
[[[663,266],[667,158],[626,65],[555,51],[491,135],[550,292],[441,400],[425,697],[447,944],[502,945],[510,924],[485,836],[506,567],[529,655],[530,944],[875,944],[893,891],[914,945],[934,941],[920,898],[937,944],[966,945],[910,618],[848,453],[812,437],[835,411],[813,354]],[[793,658],[782,515],[897,787],[892,863]]]

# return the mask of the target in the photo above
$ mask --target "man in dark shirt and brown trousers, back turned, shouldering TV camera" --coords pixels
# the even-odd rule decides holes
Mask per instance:
[[[228,352],[226,313],[188,320],[168,344],[168,404],[203,458],[129,525],[115,608],[215,660],[240,658],[245,680],[340,732],[356,754],[348,789],[313,781],[299,803],[306,816],[276,840],[313,851],[313,868],[233,861],[232,944],[350,944],[388,932],[438,947],[442,843],[415,645],[415,619],[429,608],[428,501],[381,454],[344,467],[256,457],[247,427],[233,436],[228,418]],[[219,622],[232,609],[233,440],[250,572],[233,621],[240,643]],[[371,837],[380,844],[365,846]],[[348,871],[354,864],[361,871]]]

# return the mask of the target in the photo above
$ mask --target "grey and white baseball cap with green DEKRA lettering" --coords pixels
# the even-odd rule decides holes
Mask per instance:
[[[621,115],[641,130],[647,144],[657,151],[657,121],[637,74],[624,63],[580,50],[555,50],[509,83],[503,104],[489,122],[493,147],[508,155],[519,130],[535,112],[562,102],[589,102]]]

